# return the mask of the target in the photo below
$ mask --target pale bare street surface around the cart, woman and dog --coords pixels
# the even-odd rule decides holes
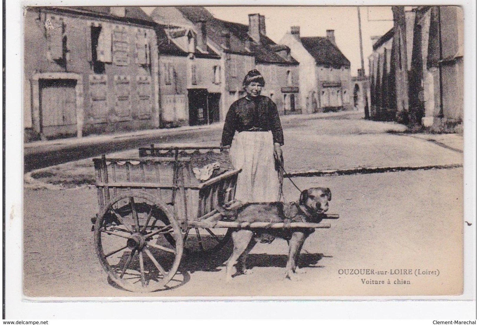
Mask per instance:
[[[330,229],[318,229],[302,251],[298,282],[283,279],[285,241],[258,244],[249,259],[252,275],[226,284],[226,248],[212,258],[184,255],[173,289],[163,296],[325,296],[456,294],[462,290],[462,137],[404,135],[394,123],[365,121],[359,115],[289,117],[285,126],[288,172],[357,167],[427,167],[379,174],[294,177],[299,188],[329,186]],[[200,132],[198,130],[198,132]],[[208,133],[212,132],[212,133]],[[200,132],[201,133],[201,132]],[[216,144],[220,128],[194,141]],[[215,136],[217,138],[215,138]],[[188,136],[186,136],[188,138]],[[433,139],[434,141],[432,141]],[[149,139],[148,139],[149,140]],[[122,148],[124,149],[124,148]],[[135,150],[115,153],[122,155]],[[97,153],[95,153],[97,154]],[[90,160],[91,161],[91,160]],[[73,170],[77,162],[52,169]],[[81,164],[81,163],[80,163]],[[451,167],[452,166],[452,167]],[[90,169],[88,169],[90,170]],[[92,173],[91,167],[91,173]],[[285,200],[299,192],[285,179]],[[107,281],[94,252],[90,218],[98,211],[96,189],[24,191],[24,290],[38,296],[134,296]],[[344,269],[439,270],[437,277],[383,274],[344,275]],[[410,281],[367,285],[361,279]]]

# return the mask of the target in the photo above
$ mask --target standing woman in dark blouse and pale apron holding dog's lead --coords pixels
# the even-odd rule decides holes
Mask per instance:
[[[221,139],[221,145],[231,145],[233,166],[242,169],[235,197],[244,202],[280,199],[275,162],[281,166],[283,129],[276,104],[261,95],[263,86],[264,79],[258,70],[248,72],[243,81],[246,96],[229,107]]]

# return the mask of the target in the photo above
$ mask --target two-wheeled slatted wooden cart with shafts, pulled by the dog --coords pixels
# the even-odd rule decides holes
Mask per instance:
[[[211,252],[234,228],[281,228],[267,222],[222,221],[215,209],[233,202],[240,170],[228,165],[223,147],[140,148],[139,158],[94,159],[100,212],[94,218],[97,255],[120,287],[151,292],[167,287],[177,274],[185,244]],[[205,182],[193,174],[220,162]],[[295,226],[294,223],[291,226]],[[329,228],[329,224],[302,224]],[[190,244],[191,246],[191,244]]]

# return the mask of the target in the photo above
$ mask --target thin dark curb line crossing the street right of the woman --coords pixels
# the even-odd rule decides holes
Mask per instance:
[[[415,170],[429,170],[429,169],[453,169],[463,167],[462,163],[453,163],[449,165],[427,165],[416,167],[358,167],[350,169],[331,169],[331,170],[311,170],[311,171],[296,171],[292,173],[285,173],[284,177],[315,177],[315,176],[342,176],[355,174],[376,174],[376,173],[391,173],[404,172]]]

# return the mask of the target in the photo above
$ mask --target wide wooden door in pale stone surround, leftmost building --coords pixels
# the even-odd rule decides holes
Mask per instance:
[[[40,128],[46,136],[77,132],[76,80],[40,80]]]

